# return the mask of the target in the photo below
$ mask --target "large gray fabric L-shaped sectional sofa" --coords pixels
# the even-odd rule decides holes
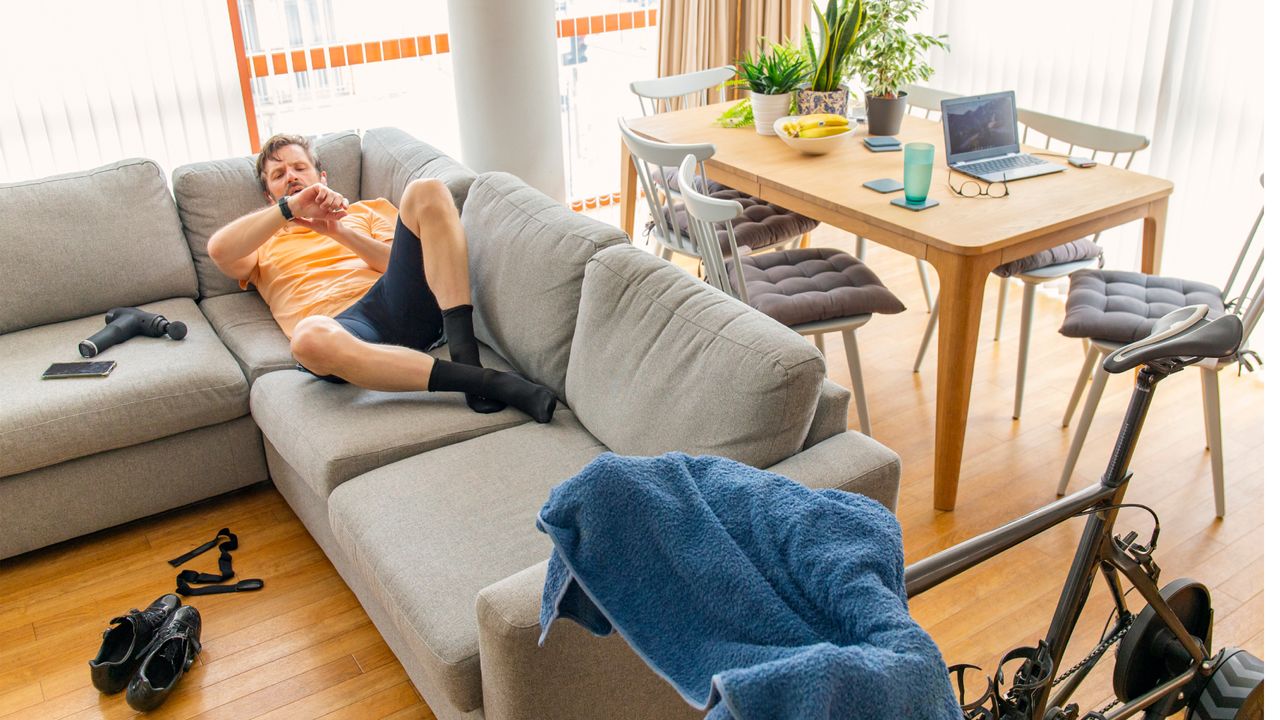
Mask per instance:
[[[442,720],[698,716],[617,635],[561,623],[538,647],[550,488],[605,450],[682,450],[892,507],[897,456],[846,430],[817,348],[617,228],[396,129],[317,151],[351,199],[449,186],[483,360],[552,387],[553,421],[297,372],[257,293],[205,251],[261,205],[246,158],[179,168],[173,196],[146,160],[0,186],[23,218],[0,231],[0,557],[270,475]],[[113,305],[191,332],[113,348],[106,380],[38,380]]]

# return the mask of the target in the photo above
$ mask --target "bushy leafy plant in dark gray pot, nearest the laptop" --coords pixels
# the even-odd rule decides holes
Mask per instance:
[[[906,31],[906,23],[924,9],[924,0],[865,0],[864,5],[867,17],[852,70],[867,90],[867,132],[897,135],[906,114],[906,94],[900,88],[929,79],[933,68],[924,54],[931,47],[947,50],[946,35]]]

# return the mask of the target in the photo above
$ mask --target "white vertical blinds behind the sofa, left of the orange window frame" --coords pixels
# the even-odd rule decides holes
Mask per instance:
[[[70,0],[0,23],[0,182],[247,154],[225,0]]]

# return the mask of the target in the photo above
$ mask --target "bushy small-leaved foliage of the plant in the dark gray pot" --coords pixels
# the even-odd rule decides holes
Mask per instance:
[[[924,55],[931,47],[950,50],[946,35],[908,32],[906,23],[924,9],[924,0],[865,0],[863,37],[852,70],[874,97],[897,97],[899,88],[933,74]]]

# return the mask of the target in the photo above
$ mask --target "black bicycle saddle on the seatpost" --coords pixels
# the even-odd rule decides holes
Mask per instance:
[[[1222,315],[1206,320],[1207,314],[1207,305],[1179,307],[1156,320],[1156,327],[1147,337],[1107,355],[1102,366],[1108,373],[1123,373],[1161,360],[1190,359],[1189,363],[1194,363],[1202,357],[1235,355],[1244,333],[1240,319]]]

